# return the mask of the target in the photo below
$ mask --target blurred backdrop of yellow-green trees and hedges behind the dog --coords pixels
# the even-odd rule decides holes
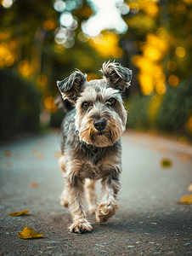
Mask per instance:
[[[1,0],[1,141],[59,127],[56,81],[133,70],[127,129],[192,142],[192,0]]]

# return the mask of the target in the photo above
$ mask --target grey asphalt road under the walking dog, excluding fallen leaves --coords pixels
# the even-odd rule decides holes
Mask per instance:
[[[192,146],[127,131],[122,137],[121,207],[93,232],[69,233],[71,215],[59,204],[59,131],[25,134],[0,147],[0,255],[192,255]],[[169,159],[170,168],[161,160]],[[99,190],[99,186],[98,186]],[[7,212],[29,210],[21,217]],[[23,240],[26,226],[42,238]]]

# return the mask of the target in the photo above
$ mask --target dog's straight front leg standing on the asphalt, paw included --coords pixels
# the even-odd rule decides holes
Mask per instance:
[[[65,186],[69,193],[69,207],[73,217],[69,230],[79,234],[92,231],[93,227],[88,222],[84,207],[83,180],[80,177],[67,178]]]

